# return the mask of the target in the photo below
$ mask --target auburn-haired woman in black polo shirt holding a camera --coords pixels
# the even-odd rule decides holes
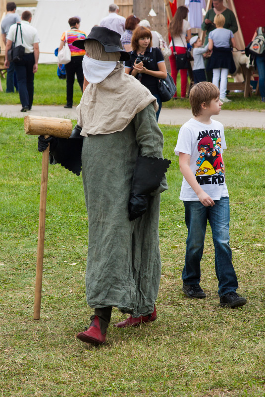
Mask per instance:
[[[163,55],[159,48],[152,47],[152,33],[144,26],[138,26],[135,29],[132,37],[132,50],[130,60],[125,62],[125,73],[136,77],[157,98],[158,120],[162,107],[158,91],[158,78],[164,79],[167,76]]]

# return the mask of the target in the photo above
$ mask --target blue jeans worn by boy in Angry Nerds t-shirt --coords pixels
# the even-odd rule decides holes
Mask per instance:
[[[182,272],[184,284],[199,284],[201,259],[209,220],[215,249],[215,273],[218,279],[218,294],[222,296],[238,288],[229,246],[229,197],[215,200],[213,207],[205,207],[200,201],[184,201],[185,222],[188,228],[185,266]]]

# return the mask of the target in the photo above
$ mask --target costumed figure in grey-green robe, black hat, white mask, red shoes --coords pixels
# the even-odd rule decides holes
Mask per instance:
[[[78,125],[71,138],[78,135],[80,142],[84,137],[81,163],[89,219],[86,297],[94,309],[90,327],[77,338],[95,344],[106,340],[113,306],[130,314],[114,325],[119,328],[157,318],[159,202],[167,189],[170,163],[162,157],[156,98],[125,74],[119,60],[130,56],[119,48],[119,41],[118,33],[93,27],[86,39],[73,43],[86,50],[83,71],[90,83],[77,107]],[[53,158],[76,172],[69,159],[57,160],[59,140],[57,149],[51,148]]]

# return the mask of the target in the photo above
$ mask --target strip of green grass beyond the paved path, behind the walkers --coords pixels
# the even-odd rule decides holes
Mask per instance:
[[[40,64],[34,80],[34,105],[65,105],[66,104],[66,80],[60,80],[56,74],[57,65]],[[232,81],[232,80],[231,80]],[[7,94],[5,92],[6,82],[1,79],[3,92],[0,92],[0,105],[20,104],[19,95]],[[177,92],[180,94],[180,75],[178,73]],[[81,90],[77,80],[74,83],[73,105],[79,104],[81,99]],[[265,110],[265,104],[261,101],[260,96],[252,95],[251,98],[244,98],[243,93],[231,92],[228,95],[232,100],[230,103],[223,104],[222,109],[227,110]],[[163,103],[164,108],[186,108],[190,109],[188,98],[177,101],[170,100]]]

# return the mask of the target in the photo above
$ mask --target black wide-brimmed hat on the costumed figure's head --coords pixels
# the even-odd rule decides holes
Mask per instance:
[[[114,30],[110,30],[101,26],[94,26],[85,39],[75,40],[72,45],[84,50],[86,40],[97,40],[103,45],[106,53],[120,52],[119,60],[129,60],[130,54],[126,53],[126,51],[120,48],[120,38],[120,34],[114,32]]]

